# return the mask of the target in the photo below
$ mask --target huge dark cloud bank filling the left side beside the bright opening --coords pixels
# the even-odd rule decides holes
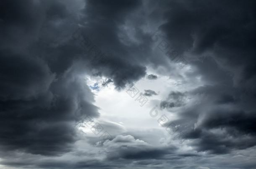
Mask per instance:
[[[9,9],[10,13],[1,10],[0,29],[3,38],[0,43],[4,45],[1,45],[0,51],[0,147],[6,152],[20,150],[32,154],[58,155],[71,151],[77,140],[76,130],[71,125],[79,120],[73,115],[76,105],[85,105],[84,114],[98,116],[98,113],[92,105],[93,94],[83,84],[84,81],[75,78],[72,73],[55,78],[52,67],[61,64],[49,66],[51,62],[42,56],[47,54],[47,50],[40,54],[35,52],[47,49],[44,44],[50,45],[53,41],[48,39],[42,43],[37,40],[44,15],[48,19],[66,16],[63,4],[56,2],[51,7],[50,3],[50,12],[44,9],[44,5],[40,8],[39,5],[42,4],[29,0],[1,1],[1,7]],[[45,21],[46,24],[50,22],[47,19]],[[47,39],[42,32],[39,36]],[[37,45],[30,44],[31,41]],[[29,45],[29,48],[33,47],[31,51],[26,48]],[[62,68],[61,73],[68,66]]]

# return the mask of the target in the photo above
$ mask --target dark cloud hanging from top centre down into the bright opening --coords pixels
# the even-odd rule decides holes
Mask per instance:
[[[92,68],[98,70],[98,76],[110,78],[118,89],[124,87],[120,81],[133,83],[146,75],[146,68],[135,60],[125,44],[120,43],[118,36],[119,27],[124,24],[126,16],[139,5],[141,1],[137,0],[110,2],[89,0],[84,9],[86,16],[81,20],[81,25],[84,25],[81,28],[83,38],[88,36],[101,54],[104,53],[110,59],[103,68],[99,62],[94,62]],[[85,21],[86,24],[83,23]],[[87,57],[93,56],[87,55]]]

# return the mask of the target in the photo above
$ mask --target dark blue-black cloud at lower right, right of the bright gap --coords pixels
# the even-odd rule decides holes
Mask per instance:
[[[226,154],[232,150],[247,149],[256,145],[254,112],[230,111],[221,106],[216,110],[212,109],[183,111],[179,120],[171,121],[165,126],[177,136],[180,133],[185,134],[183,138],[178,139],[190,140],[190,145],[197,151]]]

